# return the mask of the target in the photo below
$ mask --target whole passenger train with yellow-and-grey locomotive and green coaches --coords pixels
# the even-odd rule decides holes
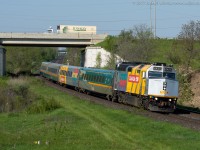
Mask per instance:
[[[108,100],[150,111],[173,112],[176,108],[176,72],[165,63],[123,62],[115,70],[103,70],[43,62],[40,74],[78,91],[101,93]]]

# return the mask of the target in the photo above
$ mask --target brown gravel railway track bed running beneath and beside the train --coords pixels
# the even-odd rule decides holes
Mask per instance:
[[[106,107],[110,107],[113,109],[129,111],[129,112],[137,114],[137,115],[150,117],[157,121],[164,121],[164,122],[179,124],[183,127],[200,131],[200,113],[195,113],[195,112],[192,112],[189,110],[184,110],[181,108],[178,108],[174,113],[150,112],[150,111],[139,109],[139,108],[136,108],[133,106],[123,105],[123,104],[116,103],[116,102],[111,102],[111,101],[106,100],[106,98],[96,97],[95,94],[87,95],[84,93],[79,93],[79,92],[75,91],[73,88],[62,87],[62,86],[60,86],[56,83],[53,83],[51,81],[48,81],[42,77],[38,77],[38,78],[40,78],[41,80],[44,80],[45,84],[50,87],[54,87],[54,88],[56,88],[62,92],[65,92],[69,95],[79,97],[80,99],[88,100],[92,103],[101,104],[101,105],[104,105]]]

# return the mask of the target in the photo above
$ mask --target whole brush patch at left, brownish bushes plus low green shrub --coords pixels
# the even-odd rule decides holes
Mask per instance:
[[[6,84],[0,84],[0,112],[26,110],[28,113],[43,113],[60,108],[55,99],[44,100],[31,92],[30,81],[26,77],[9,79]]]

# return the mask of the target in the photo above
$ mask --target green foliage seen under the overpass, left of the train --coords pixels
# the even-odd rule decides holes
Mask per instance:
[[[55,59],[54,48],[6,47],[6,68],[12,74],[31,74],[39,70],[42,61]]]

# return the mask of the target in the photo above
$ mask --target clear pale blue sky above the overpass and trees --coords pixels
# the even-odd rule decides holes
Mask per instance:
[[[81,25],[119,35],[142,24],[154,32],[156,22],[157,37],[175,38],[183,24],[200,20],[200,0],[151,1],[0,0],[0,32],[43,33],[50,26],[55,31],[57,25]]]

